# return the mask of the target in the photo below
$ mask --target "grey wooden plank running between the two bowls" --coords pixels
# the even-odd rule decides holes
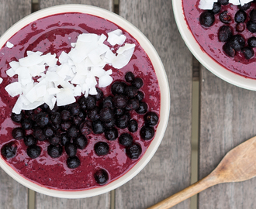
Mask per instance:
[[[116,189],[116,208],[146,208],[190,183],[192,55],[178,33],[171,1],[119,4],[119,15],[137,26],[159,53],[171,91],[171,115],[161,146],[144,170]],[[174,208],[189,208],[189,200]]]

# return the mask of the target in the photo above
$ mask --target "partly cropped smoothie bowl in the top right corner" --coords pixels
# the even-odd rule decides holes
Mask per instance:
[[[193,55],[230,84],[256,90],[253,1],[172,1],[178,29]],[[256,14],[256,12],[255,12]],[[207,22],[208,21],[208,22]]]

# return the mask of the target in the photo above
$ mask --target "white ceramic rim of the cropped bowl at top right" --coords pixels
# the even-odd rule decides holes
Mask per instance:
[[[212,57],[209,57],[207,53],[202,51],[199,43],[196,42],[194,36],[189,30],[189,26],[185,21],[185,16],[182,8],[182,0],[173,0],[172,8],[175,14],[175,20],[178,26],[178,30],[181,33],[185,44],[189,47],[189,50],[192,52],[195,58],[199,60],[199,62],[202,63],[204,67],[210,70],[217,77],[220,77],[221,79],[229,82],[230,84],[234,84],[237,87],[243,87],[248,90],[256,91],[256,80],[232,73],[230,70],[227,70],[225,67],[220,65],[220,63],[217,63],[215,60],[213,60]]]

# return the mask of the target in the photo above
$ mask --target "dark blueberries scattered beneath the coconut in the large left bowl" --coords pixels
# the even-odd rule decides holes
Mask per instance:
[[[125,80],[114,82],[112,94],[107,97],[97,88],[98,94],[87,98],[82,96],[71,105],[55,106],[50,110],[48,105],[43,104],[34,110],[22,111],[19,115],[12,113],[12,121],[21,125],[12,130],[13,138],[24,141],[26,153],[32,159],[40,156],[42,151],[37,142],[49,142],[48,155],[57,158],[65,151],[67,166],[71,169],[80,165],[77,150],[85,149],[88,145],[86,137],[90,133],[104,134],[109,141],[118,139],[126,155],[130,159],[138,159],[141,147],[133,142],[131,133],[137,132],[139,127],[137,121],[131,118],[130,111],[144,115],[144,125],[140,127],[140,137],[144,140],[154,137],[158,116],[153,111],[147,111],[144,93],[140,91],[144,81],[134,77],[131,72],[126,73]],[[127,128],[127,132],[119,135],[119,128]],[[15,141],[9,142],[2,146],[2,156],[12,158],[16,155],[16,149]],[[97,142],[94,150],[97,156],[105,156],[109,153],[109,144]],[[95,180],[99,184],[106,183],[108,178],[106,170],[95,173]]]

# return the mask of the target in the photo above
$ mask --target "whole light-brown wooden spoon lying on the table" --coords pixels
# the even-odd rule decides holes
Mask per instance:
[[[256,176],[256,136],[227,152],[220,164],[208,176],[147,209],[173,207],[218,183],[239,182],[254,176]]]

